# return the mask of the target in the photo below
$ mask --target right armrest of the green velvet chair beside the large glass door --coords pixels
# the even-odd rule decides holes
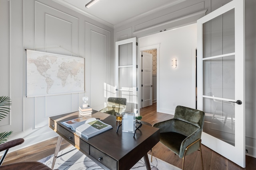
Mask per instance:
[[[186,137],[186,139],[184,139],[184,141],[182,141],[181,146],[180,146],[180,155],[179,155],[180,158],[182,158],[184,156],[184,152],[190,144],[192,144],[193,142],[195,142],[198,139],[201,139],[201,135],[202,135],[202,129],[198,129],[194,133],[192,133],[191,135]],[[192,146],[190,146],[186,151],[186,155],[198,150],[199,147],[200,147],[200,141],[198,141],[198,142],[194,143]]]

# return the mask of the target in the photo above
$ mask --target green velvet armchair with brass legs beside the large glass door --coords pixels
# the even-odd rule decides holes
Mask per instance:
[[[204,169],[201,150],[203,125],[203,111],[177,106],[173,119],[155,123],[153,127],[160,129],[160,142],[182,158],[182,169],[184,169],[185,155],[196,150],[200,151],[202,169]]]

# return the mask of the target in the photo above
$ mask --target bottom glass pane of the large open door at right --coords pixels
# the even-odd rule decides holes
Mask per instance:
[[[230,145],[235,145],[235,103],[203,99],[205,112],[203,131]]]

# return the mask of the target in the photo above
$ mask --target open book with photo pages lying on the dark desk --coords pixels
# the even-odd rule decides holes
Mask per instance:
[[[66,127],[70,127],[78,135],[90,139],[100,133],[112,129],[111,125],[108,125],[96,118],[79,117],[69,121],[61,122]]]

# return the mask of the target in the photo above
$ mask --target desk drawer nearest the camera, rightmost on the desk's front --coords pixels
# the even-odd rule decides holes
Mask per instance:
[[[90,145],[90,156],[94,157],[96,160],[98,160],[100,163],[105,165],[111,170],[117,169],[117,161],[111,158],[110,156],[104,154],[100,150],[92,147]],[[97,163],[97,162],[96,162]]]

